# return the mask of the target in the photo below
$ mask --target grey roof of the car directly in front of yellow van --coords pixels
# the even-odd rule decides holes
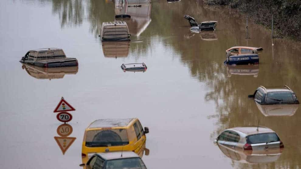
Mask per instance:
[[[104,160],[114,160],[114,159],[121,159],[121,158],[139,158],[139,156],[133,151],[123,151],[121,157],[121,151],[113,151],[113,152],[106,152],[106,153],[97,153],[101,156]]]

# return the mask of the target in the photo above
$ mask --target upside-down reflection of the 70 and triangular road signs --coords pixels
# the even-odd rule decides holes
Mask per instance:
[[[68,148],[72,145],[76,137],[67,137],[72,134],[72,126],[70,124],[61,124],[57,127],[57,134],[60,137],[54,136],[54,140],[57,142],[57,145],[62,150],[63,155],[66,153]]]

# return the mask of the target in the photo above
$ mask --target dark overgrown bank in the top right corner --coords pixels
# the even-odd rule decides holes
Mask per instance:
[[[274,37],[301,40],[301,0],[204,0],[207,5],[229,5],[272,29]]]

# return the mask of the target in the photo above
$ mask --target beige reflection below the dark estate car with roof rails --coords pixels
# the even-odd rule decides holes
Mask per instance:
[[[298,110],[299,104],[272,104],[256,106],[264,116],[292,116]]]

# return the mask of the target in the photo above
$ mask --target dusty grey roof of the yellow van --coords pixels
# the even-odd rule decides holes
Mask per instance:
[[[99,119],[92,122],[88,128],[102,128],[102,127],[126,127],[135,118],[129,119]]]

